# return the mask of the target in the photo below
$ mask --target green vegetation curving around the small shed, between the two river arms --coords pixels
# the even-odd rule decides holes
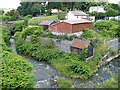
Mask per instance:
[[[105,44],[97,39],[93,40],[96,52],[94,53],[94,56],[91,58],[90,62],[86,63],[85,57],[81,57],[81,55],[84,55],[84,53],[64,53],[57,50],[52,45],[46,46],[45,44],[43,45],[42,43],[38,43],[37,37],[43,36],[45,31],[43,31],[41,27],[39,27],[39,29],[37,28],[38,27],[27,27],[22,32],[15,33],[14,38],[17,51],[24,55],[33,57],[36,60],[47,61],[49,64],[54,66],[57,71],[65,76],[88,79],[93,72],[97,70],[96,66],[101,55],[107,52]],[[23,40],[23,37],[26,36],[31,36],[32,39],[34,37],[34,41],[32,40],[33,42],[31,43]],[[101,47],[103,49],[101,49]]]

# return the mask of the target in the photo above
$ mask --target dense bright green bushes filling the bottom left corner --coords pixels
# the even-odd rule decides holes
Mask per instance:
[[[32,66],[15,53],[2,52],[2,88],[19,89],[33,87]]]

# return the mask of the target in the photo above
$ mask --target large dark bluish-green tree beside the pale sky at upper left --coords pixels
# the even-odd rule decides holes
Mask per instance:
[[[20,5],[17,11],[21,16],[26,16],[28,14],[37,16],[45,13],[45,6],[42,2],[21,2]]]

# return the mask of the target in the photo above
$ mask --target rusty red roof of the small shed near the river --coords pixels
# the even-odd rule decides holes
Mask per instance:
[[[88,46],[89,44],[90,44],[90,41],[88,41],[88,40],[75,39],[75,40],[73,40],[73,42],[71,43],[70,46],[83,49],[86,46]]]

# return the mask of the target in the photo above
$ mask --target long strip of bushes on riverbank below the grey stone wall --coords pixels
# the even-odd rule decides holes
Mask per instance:
[[[79,55],[75,53],[63,53],[53,47],[44,47],[38,43],[24,41],[21,37],[24,32],[17,32],[14,36],[17,46],[17,51],[33,57],[39,61],[47,61],[53,65],[59,72],[70,77],[80,77],[88,79],[92,75],[89,66],[81,62]],[[20,42],[22,42],[20,44]],[[76,62],[76,63],[75,63]],[[78,65],[74,68],[74,65]],[[72,66],[73,67],[72,67]],[[82,65],[82,68],[81,68]],[[73,75],[72,75],[73,74]]]

